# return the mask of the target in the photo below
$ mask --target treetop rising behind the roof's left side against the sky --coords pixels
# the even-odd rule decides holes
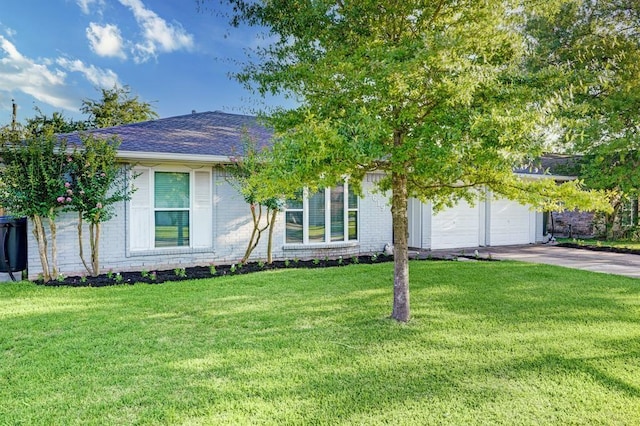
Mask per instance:
[[[119,126],[152,120],[158,117],[147,102],[137,96],[131,97],[129,86],[114,86],[113,89],[101,89],[102,99],[84,99],[80,111],[89,115],[91,128]]]

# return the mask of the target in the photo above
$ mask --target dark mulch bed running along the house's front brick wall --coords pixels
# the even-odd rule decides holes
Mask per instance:
[[[261,262],[248,262],[243,265],[215,265],[215,270],[208,266],[195,266],[188,268],[162,270],[162,271],[138,271],[138,272],[117,272],[92,276],[72,276],[61,277],[59,280],[44,282],[36,280],[38,285],[45,286],[70,286],[70,287],[105,287],[112,285],[133,285],[133,284],[161,284],[168,281],[184,281],[200,278],[214,278],[229,275],[248,274],[251,272],[268,271],[272,269],[294,269],[294,268],[327,268],[341,267],[353,264],[373,264],[393,261],[393,256],[384,254],[354,256],[336,259],[315,259],[315,260],[290,260],[274,261],[271,264]]]

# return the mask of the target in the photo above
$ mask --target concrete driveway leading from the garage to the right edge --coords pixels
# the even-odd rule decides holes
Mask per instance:
[[[549,244],[478,247],[464,249],[465,255],[474,255],[494,259],[518,260],[522,262],[546,263],[549,265],[565,266],[567,268],[584,269],[605,274],[625,275],[640,278],[640,255],[590,251],[584,249],[558,247]],[[432,256],[459,255],[462,250],[433,250]]]

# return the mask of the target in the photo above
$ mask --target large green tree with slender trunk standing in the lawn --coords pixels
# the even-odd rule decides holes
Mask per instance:
[[[598,207],[577,182],[557,186],[513,173],[542,153],[556,68],[526,71],[527,10],[509,0],[227,0],[231,22],[266,28],[237,78],[294,97],[276,110],[268,165],[254,179],[262,197],[292,197],[348,178],[358,188],[384,172],[395,246],[392,317],[410,318],[407,202],[434,207],[494,194],[545,209]],[[526,2],[525,2],[526,3]],[[527,3],[528,4],[528,3]],[[557,11],[545,2],[545,13]],[[602,205],[602,204],[600,204]]]

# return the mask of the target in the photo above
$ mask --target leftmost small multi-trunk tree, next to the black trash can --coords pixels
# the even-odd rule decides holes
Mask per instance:
[[[2,140],[0,170],[0,204],[17,216],[33,222],[33,235],[45,281],[58,275],[55,219],[73,198],[65,193],[64,175],[68,156],[66,141],[53,135],[25,140]],[[44,223],[50,230],[51,259]]]

